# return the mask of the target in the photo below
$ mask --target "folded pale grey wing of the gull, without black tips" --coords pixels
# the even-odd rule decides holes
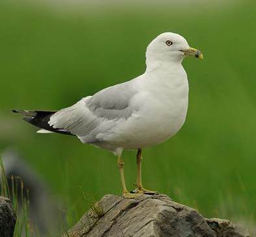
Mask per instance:
[[[118,121],[125,121],[132,115],[130,102],[136,93],[130,82],[107,87],[61,109],[51,117],[49,125],[69,131],[83,142],[98,142]]]

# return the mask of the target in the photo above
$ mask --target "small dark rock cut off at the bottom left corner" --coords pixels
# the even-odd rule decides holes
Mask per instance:
[[[16,214],[10,199],[0,196],[0,236],[12,237],[16,223]]]

